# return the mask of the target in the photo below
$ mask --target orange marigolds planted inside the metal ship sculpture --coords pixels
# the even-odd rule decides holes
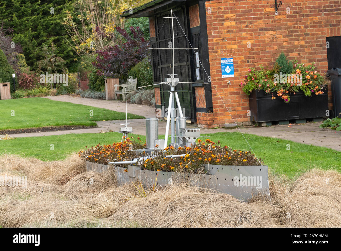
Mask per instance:
[[[223,147],[219,143],[218,141],[218,144],[215,144],[209,139],[205,141],[198,139],[198,143],[192,147],[174,148],[171,146],[167,147],[165,151],[157,150],[151,157],[143,161],[144,164],[140,165],[140,168],[153,171],[199,173],[204,172],[204,164],[224,166],[263,165],[262,160],[258,160],[249,151],[233,150],[226,145]],[[143,149],[145,146],[146,144],[142,144],[139,139],[135,142],[127,138],[122,143],[96,145],[85,151],[80,151],[79,156],[89,162],[107,165],[109,161],[130,161],[133,158],[147,156],[145,152],[138,154],[136,151],[132,151]],[[186,155],[179,158],[165,158],[166,155],[182,154]],[[120,166],[124,167],[124,165]]]

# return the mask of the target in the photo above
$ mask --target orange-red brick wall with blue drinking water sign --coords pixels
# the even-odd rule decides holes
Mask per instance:
[[[302,63],[314,61],[318,71],[327,71],[326,37],[341,36],[340,0],[285,0],[278,15],[274,5],[273,0],[206,2],[212,84],[238,124],[250,123],[249,99],[239,86],[250,67],[260,64],[272,67],[284,51],[288,59],[296,58]],[[286,13],[287,8],[290,14]],[[225,57],[234,58],[234,78],[221,78],[220,58]],[[201,127],[233,122],[213,85],[213,114],[209,120],[202,120],[204,117],[198,114],[197,123],[203,123]],[[210,124],[204,124],[205,121]]]

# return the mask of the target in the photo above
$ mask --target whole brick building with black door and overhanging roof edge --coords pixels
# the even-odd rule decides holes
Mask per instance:
[[[276,2],[279,5],[280,1]],[[225,105],[239,125],[252,123],[249,97],[239,84],[250,67],[272,67],[282,51],[288,59],[315,62],[320,72],[341,67],[340,8],[341,0],[283,0],[276,14],[275,0],[145,0],[122,16],[149,17],[152,47],[165,48],[171,39],[171,26],[164,17],[173,9],[179,17],[174,26],[175,47],[198,48],[202,62],[196,65],[195,52],[178,50],[175,73],[180,81],[195,82],[178,86],[180,100],[188,120],[199,127],[213,128],[233,123]],[[154,83],[170,73],[171,50],[164,51],[152,53]],[[230,57],[234,77],[222,78],[221,58]],[[203,83],[209,79],[212,84]],[[167,107],[167,88],[155,87],[157,108]],[[330,88],[328,97],[331,108]]]

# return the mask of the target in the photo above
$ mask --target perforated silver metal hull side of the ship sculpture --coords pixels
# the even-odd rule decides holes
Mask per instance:
[[[109,166],[86,162],[88,171],[103,172]],[[187,181],[191,185],[210,188],[213,191],[230,194],[239,200],[247,201],[256,195],[270,199],[268,166],[220,166],[205,165],[208,173],[174,173],[162,171],[140,170],[138,166],[127,168],[112,166],[117,182],[126,184],[139,179],[146,189],[170,185],[178,181]],[[127,170],[127,171],[125,171]]]

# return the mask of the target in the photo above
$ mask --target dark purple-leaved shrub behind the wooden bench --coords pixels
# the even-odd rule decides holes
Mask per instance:
[[[139,27],[130,27],[130,32],[116,27],[116,31],[121,34],[123,42],[97,50],[93,66],[98,70],[97,74],[125,82],[129,70],[148,56],[149,41],[145,40]],[[110,39],[110,35],[106,36]]]

